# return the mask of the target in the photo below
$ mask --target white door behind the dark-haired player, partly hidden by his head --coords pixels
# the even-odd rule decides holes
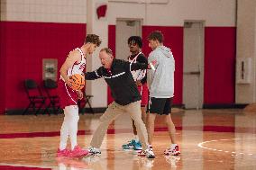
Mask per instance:
[[[141,21],[117,19],[115,31],[115,58],[127,60],[130,55],[127,40],[134,35],[142,36]]]

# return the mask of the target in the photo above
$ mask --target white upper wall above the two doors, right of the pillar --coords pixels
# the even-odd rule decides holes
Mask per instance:
[[[108,22],[115,24],[116,18],[142,18],[144,25],[183,26],[185,20],[204,20],[206,26],[234,26],[234,16],[235,0],[169,0],[169,4],[111,0]]]

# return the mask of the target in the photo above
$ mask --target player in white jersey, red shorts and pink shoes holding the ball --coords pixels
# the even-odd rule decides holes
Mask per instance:
[[[81,48],[73,49],[69,52],[69,57],[66,59],[60,68],[59,79],[59,98],[60,106],[64,109],[64,121],[60,129],[60,142],[57,151],[57,157],[81,157],[88,154],[78,146],[78,99],[83,98],[81,90],[74,91],[70,88],[69,76],[74,74],[83,75],[83,70],[86,67],[86,55],[92,54],[96,47],[101,44],[101,40],[95,34],[88,34],[84,45]],[[71,149],[67,148],[67,141],[70,139]]]

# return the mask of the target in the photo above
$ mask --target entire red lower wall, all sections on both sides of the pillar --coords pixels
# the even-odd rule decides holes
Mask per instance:
[[[159,30],[174,54],[175,104],[182,103],[183,27],[143,26],[143,52],[148,55],[147,36]],[[109,47],[115,53],[115,25],[109,25]],[[0,113],[28,104],[23,79],[42,79],[42,58],[58,58],[60,67],[71,49],[82,45],[86,24],[46,22],[0,22]],[[204,103],[234,103],[235,28],[206,27]],[[108,94],[108,103],[113,99]]]

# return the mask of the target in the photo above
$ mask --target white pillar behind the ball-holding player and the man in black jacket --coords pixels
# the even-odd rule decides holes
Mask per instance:
[[[100,49],[107,47],[108,44],[107,20],[105,18],[98,19],[96,10],[94,10],[102,4],[107,4],[107,0],[87,1],[87,33],[95,33],[102,40],[100,47],[87,58],[87,71],[94,71],[96,68],[101,67],[98,53]],[[87,94],[94,96],[91,99],[93,108],[105,108],[107,106],[107,86],[103,78],[87,81],[86,89]]]

